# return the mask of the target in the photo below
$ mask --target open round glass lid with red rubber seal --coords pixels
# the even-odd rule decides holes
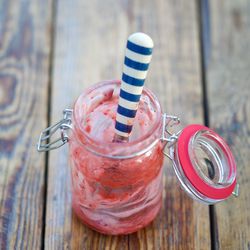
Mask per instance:
[[[233,154],[226,142],[208,127],[195,124],[184,128],[171,158],[182,187],[193,198],[215,203],[234,191]]]

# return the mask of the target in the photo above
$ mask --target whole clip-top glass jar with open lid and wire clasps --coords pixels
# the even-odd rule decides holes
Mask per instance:
[[[106,138],[115,115],[110,116],[113,122],[105,124],[104,137],[89,133],[91,127],[86,124],[91,112],[105,101],[117,102],[119,86],[120,81],[111,80],[89,88],[73,110],[66,109],[63,119],[39,138],[38,151],[69,143],[72,206],[83,223],[105,234],[128,234],[148,225],[162,204],[164,155],[191,197],[213,204],[238,194],[236,164],[225,141],[203,125],[171,133],[179,119],[163,114],[157,97],[147,88],[138,112],[152,114],[145,118],[147,129],[138,130],[134,140],[119,143]],[[57,131],[60,137],[48,143]]]

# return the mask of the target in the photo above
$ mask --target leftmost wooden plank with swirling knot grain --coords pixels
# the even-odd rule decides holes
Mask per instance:
[[[0,1],[0,249],[42,246],[50,1]]]

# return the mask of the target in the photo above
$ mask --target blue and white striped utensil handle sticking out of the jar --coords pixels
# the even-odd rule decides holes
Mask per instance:
[[[153,41],[144,33],[129,36],[115,124],[114,141],[126,141],[140,101],[152,57]]]

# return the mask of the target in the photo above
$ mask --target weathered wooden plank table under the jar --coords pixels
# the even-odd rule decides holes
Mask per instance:
[[[0,249],[250,249],[249,14],[245,0],[1,0]],[[230,145],[240,197],[194,202],[166,160],[157,219],[104,236],[72,214],[67,146],[36,143],[86,87],[120,78],[134,31],[154,39],[146,85],[164,111]]]

